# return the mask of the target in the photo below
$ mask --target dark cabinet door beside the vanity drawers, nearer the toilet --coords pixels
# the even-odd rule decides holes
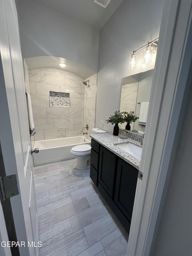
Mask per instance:
[[[100,146],[99,183],[107,191],[110,197],[113,195],[115,168],[116,155],[103,146]]]

